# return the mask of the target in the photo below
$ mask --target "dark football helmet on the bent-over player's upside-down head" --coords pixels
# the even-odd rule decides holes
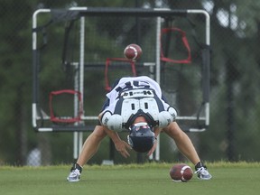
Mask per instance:
[[[137,123],[129,127],[130,134],[127,135],[130,144],[137,153],[146,153],[153,147],[155,136],[147,123]]]

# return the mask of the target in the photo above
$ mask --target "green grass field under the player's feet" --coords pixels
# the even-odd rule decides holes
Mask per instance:
[[[172,164],[86,165],[79,182],[68,182],[70,165],[0,167],[1,195],[124,194],[124,195],[239,195],[260,194],[260,163],[208,163],[213,178],[173,182]],[[191,166],[193,168],[193,166]]]

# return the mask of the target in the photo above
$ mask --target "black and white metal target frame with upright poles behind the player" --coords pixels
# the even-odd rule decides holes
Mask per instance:
[[[53,10],[51,9],[39,9],[34,12],[32,15],[32,67],[33,67],[33,86],[32,86],[32,126],[37,132],[55,132],[55,131],[71,131],[74,132],[74,159],[77,159],[79,151],[81,150],[82,145],[82,132],[89,131],[87,126],[79,125],[75,123],[73,126],[50,126],[50,127],[41,127],[37,125],[37,120],[50,120],[50,116],[39,116],[41,113],[41,108],[38,106],[39,103],[39,57],[37,49],[37,17],[39,14],[48,14]],[[57,10],[56,10],[57,11]],[[75,75],[75,79],[79,82],[75,82],[75,90],[84,96],[84,42],[85,42],[85,17],[88,16],[100,16],[100,15],[109,15],[109,16],[133,16],[135,17],[156,17],[157,18],[157,30],[156,30],[156,60],[155,63],[150,63],[151,67],[154,68],[155,65],[155,75],[151,75],[160,84],[160,72],[161,72],[161,60],[160,60],[160,33],[161,33],[161,19],[162,17],[167,16],[187,16],[188,14],[203,14],[205,16],[205,43],[208,47],[208,50],[204,51],[204,64],[203,66],[203,103],[205,105],[205,116],[200,116],[200,120],[205,121],[205,125],[201,128],[190,127],[188,131],[190,132],[201,132],[205,131],[209,126],[209,67],[210,67],[210,23],[209,23],[209,14],[204,10],[171,10],[171,9],[144,9],[144,8],[108,8],[108,7],[72,7],[68,10],[58,10],[60,12],[60,17],[69,17],[73,15],[74,18],[80,20],[80,32],[79,32],[79,62],[73,62],[75,67],[79,68],[79,73]],[[64,18],[63,18],[64,19]],[[144,64],[145,65],[145,64]],[[79,83],[79,85],[77,84]],[[75,115],[78,113],[79,105],[77,103],[78,98],[75,97]],[[82,102],[84,106],[84,102]],[[81,116],[82,120],[98,120],[98,116]],[[177,120],[198,120],[198,116],[178,116]],[[160,159],[159,153],[160,144],[158,144],[155,159]]]

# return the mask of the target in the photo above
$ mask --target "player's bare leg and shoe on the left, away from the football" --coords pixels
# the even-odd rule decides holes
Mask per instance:
[[[83,144],[77,163],[72,165],[67,181],[79,181],[83,165],[97,153],[99,144],[106,135],[103,127],[101,125],[96,125],[94,131],[88,136]]]

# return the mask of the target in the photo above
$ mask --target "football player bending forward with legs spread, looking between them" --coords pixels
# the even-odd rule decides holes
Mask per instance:
[[[116,151],[126,158],[130,149],[151,155],[161,132],[172,137],[181,153],[195,165],[199,179],[211,178],[189,136],[176,123],[175,109],[163,98],[159,84],[153,79],[141,76],[117,80],[107,93],[102,110],[98,116],[100,124],[83,144],[77,163],[70,169],[68,181],[79,181],[83,165],[97,153],[99,144],[107,135],[114,142]],[[127,143],[117,134],[124,129],[129,130]]]

